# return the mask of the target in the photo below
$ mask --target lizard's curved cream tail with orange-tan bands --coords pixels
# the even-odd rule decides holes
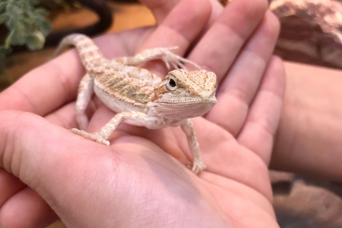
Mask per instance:
[[[65,48],[73,45],[76,47],[82,64],[88,71],[96,71],[96,66],[104,60],[104,57],[95,43],[86,35],[81,33],[73,33],[63,38],[58,45],[53,57],[60,54]]]

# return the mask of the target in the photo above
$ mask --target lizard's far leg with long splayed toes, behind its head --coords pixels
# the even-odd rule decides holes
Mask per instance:
[[[147,61],[160,59],[165,63],[166,67],[169,70],[171,69],[171,66],[175,69],[177,69],[178,66],[183,69],[186,69],[184,64],[190,64],[190,65],[195,66],[198,69],[200,68],[196,63],[170,52],[171,50],[174,50],[177,48],[178,47],[148,49],[133,57],[118,57],[118,58],[115,58],[114,61],[125,64],[125,65],[129,65],[129,66],[137,66]]]

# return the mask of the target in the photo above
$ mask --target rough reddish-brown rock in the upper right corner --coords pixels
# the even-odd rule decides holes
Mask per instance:
[[[275,54],[342,69],[341,0],[273,0],[270,9],[281,22]]]

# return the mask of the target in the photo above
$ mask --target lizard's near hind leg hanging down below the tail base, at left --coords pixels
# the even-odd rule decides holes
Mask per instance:
[[[86,115],[86,108],[94,94],[94,77],[86,73],[82,78],[76,100],[76,115],[79,128],[84,130],[88,127],[88,117]]]

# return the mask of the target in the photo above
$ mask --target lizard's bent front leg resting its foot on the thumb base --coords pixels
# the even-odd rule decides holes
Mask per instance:
[[[126,122],[135,126],[145,126],[149,129],[158,129],[165,125],[165,123],[163,123],[163,121],[158,117],[150,117],[143,112],[128,111],[116,114],[108,123],[106,123],[106,125],[100,129],[100,131],[96,133],[88,133],[76,128],[70,129],[70,131],[100,144],[109,146],[107,139],[111,134],[113,134],[113,132],[122,122]]]

